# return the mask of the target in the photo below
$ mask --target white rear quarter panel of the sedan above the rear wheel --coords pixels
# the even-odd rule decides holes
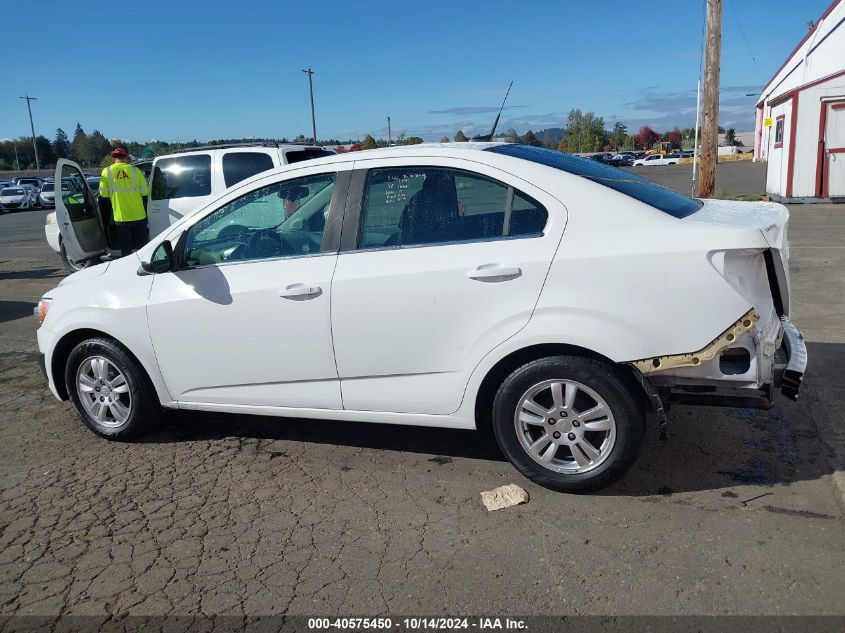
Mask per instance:
[[[569,223],[526,336],[631,362],[701,350],[754,307],[709,255],[767,248],[758,228],[685,222],[594,188],[589,205],[557,194]]]

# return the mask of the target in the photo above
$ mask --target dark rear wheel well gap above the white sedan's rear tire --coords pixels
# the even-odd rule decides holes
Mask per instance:
[[[627,367],[619,365],[597,352],[577,345],[566,345],[564,343],[532,345],[531,347],[511,352],[496,363],[489,372],[487,372],[484,380],[481,381],[481,386],[478,388],[478,393],[475,397],[476,428],[483,433],[490,433],[492,436],[493,398],[496,396],[496,391],[499,389],[499,386],[511,372],[533,360],[559,355],[592,358],[607,363],[612,367],[617,367],[620,370],[618,372],[620,379],[628,386],[628,389],[637,402],[643,407],[647,406],[648,398],[646,393],[644,392],[642,386],[637,383],[633,372],[629,371]]]

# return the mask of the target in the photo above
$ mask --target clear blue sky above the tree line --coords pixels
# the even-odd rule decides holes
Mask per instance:
[[[724,0],[720,123],[755,96],[830,0]],[[572,108],[629,131],[695,122],[704,0],[39,0],[4,29],[0,138],[77,123],[108,138],[439,140],[563,127]]]

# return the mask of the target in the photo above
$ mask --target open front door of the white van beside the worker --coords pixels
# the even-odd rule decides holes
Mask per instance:
[[[97,197],[88,188],[79,165],[60,158],[55,182],[56,222],[68,259],[81,262],[104,255],[108,243]]]

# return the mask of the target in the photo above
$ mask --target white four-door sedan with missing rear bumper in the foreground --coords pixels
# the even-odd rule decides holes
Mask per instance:
[[[60,178],[82,174],[62,160]],[[56,200],[79,259],[105,248],[85,192]],[[535,147],[342,154],[71,275],[38,345],[53,394],[107,438],[162,407],[492,427],[524,475],[583,492],[631,467],[647,411],[662,431],[670,402],[797,397],[787,219]]]

